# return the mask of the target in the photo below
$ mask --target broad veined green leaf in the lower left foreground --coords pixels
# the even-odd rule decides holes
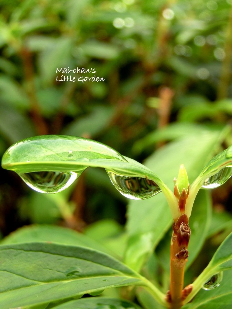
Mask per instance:
[[[147,279],[118,260],[84,247],[54,243],[0,246],[1,309],[31,308],[110,287],[143,285],[161,303]]]

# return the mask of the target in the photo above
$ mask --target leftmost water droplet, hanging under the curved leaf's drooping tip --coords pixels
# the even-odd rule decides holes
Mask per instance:
[[[26,184],[37,192],[57,193],[69,187],[77,178],[75,172],[42,171],[19,174]]]

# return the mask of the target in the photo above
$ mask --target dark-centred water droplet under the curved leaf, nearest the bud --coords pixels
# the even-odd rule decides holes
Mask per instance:
[[[143,200],[161,192],[160,187],[153,181],[142,177],[117,175],[107,171],[114,187],[125,197],[132,200]]]

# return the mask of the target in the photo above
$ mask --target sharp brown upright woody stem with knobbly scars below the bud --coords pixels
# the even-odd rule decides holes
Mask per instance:
[[[173,225],[170,259],[170,302],[171,309],[179,309],[182,306],[182,290],[184,284],[184,269],[188,257],[188,242],[191,230],[188,218],[185,214],[180,216]]]

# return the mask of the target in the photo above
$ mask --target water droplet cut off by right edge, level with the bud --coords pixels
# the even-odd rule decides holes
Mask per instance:
[[[213,189],[220,187],[224,184],[232,175],[232,167],[224,167],[218,173],[207,178],[202,185],[204,189]]]

